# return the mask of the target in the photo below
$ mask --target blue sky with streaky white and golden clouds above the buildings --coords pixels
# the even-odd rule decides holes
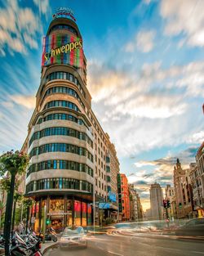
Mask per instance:
[[[83,37],[92,107],[121,172],[149,208],[149,184],[172,182],[204,138],[204,2],[0,1],[0,151],[20,149],[33,113],[42,36],[70,7]]]

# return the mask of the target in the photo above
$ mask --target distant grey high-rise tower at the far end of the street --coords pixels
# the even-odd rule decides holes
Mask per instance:
[[[163,219],[163,192],[161,186],[156,182],[150,186],[150,205],[151,205],[151,218]]]

